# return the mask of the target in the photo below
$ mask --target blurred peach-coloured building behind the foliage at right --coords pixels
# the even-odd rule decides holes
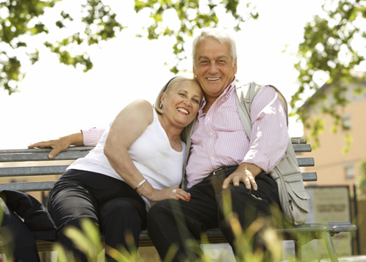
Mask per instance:
[[[366,159],[366,82],[361,82],[360,85],[363,92],[355,96],[354,91],[358,85],[347,83],[345,96],[349,104],[337,109],[342,119],[338,132],[331,132],[334,119],[320,112],[320,107],[327,106],[327,101],[332,99],[331,83],[318,90],[325,94],[326,101],[318,101],[311,106],[305,105],[309,106],[309,119],[319,118],[325,122],[325,129],[318,137],[320,145],[311,152],[311,157],[314,157],[316,162],[315,167],[306,168],[305,171],[317,172],[316,185],[349,185],[349,190],[353,192],[360,163]],[[305,137],[309,137],[309,131],[305,127]],[[347,135],[351,137],[351,144],[349,151],[344,153]],[[314,141],[309,139],[308,143],[314,144]]]

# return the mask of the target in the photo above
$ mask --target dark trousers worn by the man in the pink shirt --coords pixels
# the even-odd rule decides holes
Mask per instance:
[[[240,183],[240,186],[231,185],[222,192],[218,184],[222,185],[224,178],[231,172],[207,177],[193,185],[187,190],[191,193],[190,202],[166,199],[156,203],[149,210],[148,234],[162,259],[174,243],[178,251],[173,261],[183,261],[184,258],[194,261],[200,256],[199,245],[190,248],[189,244],[184,243],[189,239],[200,239],[201,232],[210,228],[220,228],[235,252],[233,232],[224,221],[222,212],[222,196],[228,192],[231,194],[232,210],[237,214],[244,230],[258,216],[269,215],[270,204],[280,206],[277,184],[268,174],[258,174],[256,177],[258,190],[247,190],[245,185]]]

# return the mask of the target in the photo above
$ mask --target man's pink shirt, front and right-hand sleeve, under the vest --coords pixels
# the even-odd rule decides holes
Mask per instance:
[[[273,88],[266,86],[251,104],[253,131],[249,140],[235,101],[235,80],[211,105],[198,112],[186,166],[187,187],[222,166],[253,163],[270,172],[285,154],[289,134],[285,110]]]

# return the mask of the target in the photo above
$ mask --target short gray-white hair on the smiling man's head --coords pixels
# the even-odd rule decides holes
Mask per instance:
[[[233,39],[233,37],[231,37],[231,35],[228,32],[221,30],[219,28],[205,28],[201,31],[200,35],[198,35],[197,37],[195,37],[195,39],[193,39],[193,48],[192,48],[193,64],[195,65],[194,63],[195,48],[197,47],[198,41],[207,38],[216,39],[220,41],[220,43],[229,43],[231,58],[233,59],[233,66],[234,66],[235,59],[237,59],[238,57],[238,54],[236,54],[235,40]]]

